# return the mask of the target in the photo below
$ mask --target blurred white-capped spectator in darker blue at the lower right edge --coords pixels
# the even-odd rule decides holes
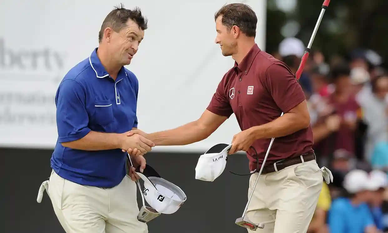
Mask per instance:
[[[376,227],[383,231],[388,228],[388,225],[385,225],[383,222],[383,201],[384,201],[384,191],[388,186],[388,177],[385,172],[381,170],[373,170],[369,174],[369,183],[372,190],[372,196],[369,200],[369,207],[372,212],[374,223]]]

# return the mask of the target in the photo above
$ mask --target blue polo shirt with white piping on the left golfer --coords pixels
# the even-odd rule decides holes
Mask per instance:
[[[74,66],[57,89],[58,139],[51,167],[74,183],[111,188],[125,176],[126,153],[121,149],[74,150],[61,144],[81,139],[91,130],[124,133],[137,127],[136,76],[122,67],[113,80],[97,57],[97,49]]]

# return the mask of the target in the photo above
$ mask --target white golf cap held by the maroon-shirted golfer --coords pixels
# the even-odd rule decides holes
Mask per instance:
[[[214,181],[225,169],[230,144],[217,144],[199,156],[195,168],[195,178],[201,181]]]

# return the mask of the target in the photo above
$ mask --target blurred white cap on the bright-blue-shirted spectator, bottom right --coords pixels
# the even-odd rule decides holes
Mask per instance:
[[[357,193],[363,190],[369,190],[368,184],[368,173],[359,169],[351,170],[348,172],[343,180],[343,187],[349,193]]]

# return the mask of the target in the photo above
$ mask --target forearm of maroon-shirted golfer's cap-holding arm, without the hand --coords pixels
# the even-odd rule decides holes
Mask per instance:
[[[296,113],[285,113],[272,122],[251,128],[255,139],[283,137],[298,130],[305,129],[310,124],[310,119],[300,117]]]

